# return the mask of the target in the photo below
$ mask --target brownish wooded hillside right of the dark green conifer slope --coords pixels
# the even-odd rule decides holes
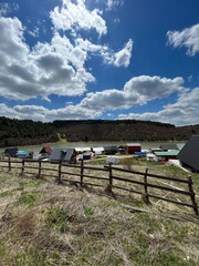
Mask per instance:
[[[53,126],[61,136],[71,142],[78,141],[187,141],[199,134],[199,125],[175,126],[151,121],[92,120],[54,121]]]

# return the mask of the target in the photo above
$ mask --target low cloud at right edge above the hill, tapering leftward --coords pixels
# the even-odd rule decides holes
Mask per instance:
[[[176,103],[168,104],[159,112],[146,112],[143,114],[129,113],[119,114],[119,119],[150,120],[171,123],[176,125],[187,125],[199,123],[199,88],[182,93]]]

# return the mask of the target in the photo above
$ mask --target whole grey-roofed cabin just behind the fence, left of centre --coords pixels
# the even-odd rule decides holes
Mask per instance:
[[[54,149],[49,156],[51,162],[66,162],[66,163],[76,163],[76,151],[75,149]]]

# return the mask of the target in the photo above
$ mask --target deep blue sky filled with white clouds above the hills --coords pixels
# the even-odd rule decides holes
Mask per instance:
[[[198,0],[0,0],[0,116],[199,124]]]

